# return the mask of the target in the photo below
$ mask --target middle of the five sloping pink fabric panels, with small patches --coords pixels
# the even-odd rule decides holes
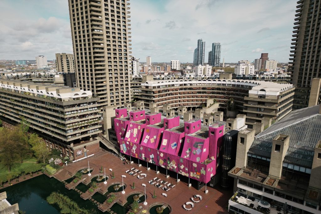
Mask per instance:
[[[157,149],[160,141],[160,135],[164,128],[158,126],[147,125],[144,129],[141,145],[149,148]]]

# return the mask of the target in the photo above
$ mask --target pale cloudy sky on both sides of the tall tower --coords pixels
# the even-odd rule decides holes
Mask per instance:
[[[253,61],[260,54],[288,62],[295,0],[131,0],[132,55],[146,61],[192,62],[197,39],[205,62],[221,42],[221,62]],[[73,53],[67,0],[2,0],[0,59]]]

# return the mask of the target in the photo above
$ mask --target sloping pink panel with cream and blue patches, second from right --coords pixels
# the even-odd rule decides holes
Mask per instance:
[[[178,155],[178,151],[184,141],[185,133],[165,130],[160,144],[160,151],[168,154]]]

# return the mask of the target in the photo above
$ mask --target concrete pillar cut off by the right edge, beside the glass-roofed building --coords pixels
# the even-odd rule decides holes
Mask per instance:
[[[311,176],[309,181],[309,186],[321,189],[321,141],[317,142],[316,148],[314,150],[313,162],[312,162],[312,169],[311,169]]]

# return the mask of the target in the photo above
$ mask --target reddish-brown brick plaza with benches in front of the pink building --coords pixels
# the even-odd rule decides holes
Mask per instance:
[[[187,183],[184,182],[176,182],[176,178],[166,178],[164,174],[156,174],[154,170],[147,170],[146,167],[141,166],[138,167],[138,164],[123,164],[123,161],[119,158],[114,156],[111,153],[102,153],[100,152],[99,155],[94,155],[90,158],[85,158],[81,161],[75,162],[71,165],[64,167],[63,170],[67,171],[68,173],[56,173],[55,177],[60,180],[66,180],[71,177],[71,175],[76,174],[77,171],[88,168],[88,160],[90,164],[90,168],[93,168],[91,172],[91,176],[83,175],[85,181],[90,181],[93,177],[97,175],[103,175],[103,173],[99,173],[100,167],[106,168],[106,175],[109,176],[107,180],[107,184],[100,183],[100,193],[106,193],[109,186],[115,183],[122,183],[121,175],[126,175],[124,178],[124,184],[126,184],[125,194],[121,194],[120,192],[116,193],[119,196],[119,202],[123,205],[126,203],[126,199],[129,195],[137,192],[144,192],[144,187],[142,184],[146,184],[146,195],[147,195],[147,205],[143,205],[140,203],[139,205],[143,207],[143,209],[149,210],[155,203],[167,203],[171,208],[171,213],[180,214],[186,213],[187,210],[184,210],[183,204],[191,201],[191,197],[194,194],[199,194],[203,197],[199,203],[195,203],[194,208],[189,211],[188,213],[227,213],[226,206],[228,204],[228,200],[232,195],[231,191],[221,190],[218,188],[207,187],[208,193],[205,194],[205,187],[201,190],[195,189],[195,187],[191,186],[188,187]],[[141,161],[142,163],[143,161]],[[147,174],[146,178],[138,179],[137,175],[132,176],[126,173],[126,170],[131,168],[136,168],[142,171],[142,173]],[[115,179],[111,179],[112,173],[109,171],[111,168],[114,172]],[[171,188],[168,192],[162,190],[161,188],[157,188],[154,185],[148,183],[148,181],[152,180],[154,177],[158,177],[161,180],[165,180],[169,183],[176,184],[175,187]],[[130,187],[135,182],[135,189],[131,189]],[[155,194],[157,198],[152,198],[153,192],[155,190]],[[168,196],[165,197],[162,193],[166,193]]]

